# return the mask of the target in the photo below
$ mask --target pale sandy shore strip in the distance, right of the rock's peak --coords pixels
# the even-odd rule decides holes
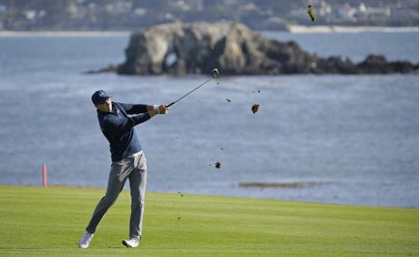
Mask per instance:
[[[419,26],[301,26],[289,25],[291,33],[419,32]]]

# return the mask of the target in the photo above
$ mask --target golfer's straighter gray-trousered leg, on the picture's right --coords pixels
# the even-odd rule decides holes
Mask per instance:
[[[146,197],[147,160],[141,154],[134,159],[135,169],[129,175],[131,189],[131,218],[129,219],[129,238],[140,240],[144,214],[144,200]]]

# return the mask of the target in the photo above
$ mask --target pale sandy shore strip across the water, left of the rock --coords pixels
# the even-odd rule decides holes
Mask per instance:
[[[0,31],[0,36],[130,36],[130,31]]]

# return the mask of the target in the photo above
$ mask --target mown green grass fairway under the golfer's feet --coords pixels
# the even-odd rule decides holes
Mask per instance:
[[[0,256],[419,255],[419,211],[148,192],[143,241],[128,238],[129,191],[78,249],[105,190],[0,186]]]

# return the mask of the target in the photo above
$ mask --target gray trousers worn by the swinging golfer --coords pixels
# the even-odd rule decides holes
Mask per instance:
[[[141,239],[147,180],[147,159],[143,151],[112,163],[107,181],[107,193],[97,203],[97,207],[86,228],[88,232],[94,233],[96,231],[98,223],[102,220],[109,207],[117,200],[127,179],[129,179],[129,187],[131,189],[129,239]]]

